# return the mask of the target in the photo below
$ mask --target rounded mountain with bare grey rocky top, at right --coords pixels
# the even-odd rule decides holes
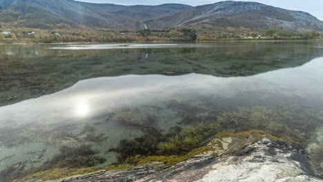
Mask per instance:
[[[284,10],[246,1],[222,1],[197,6],[150,19],[146,23],[155,28],[208,24],[219,28],[233,27],[251,30],[284,28],[323,31],[323,22],[307,12]]]

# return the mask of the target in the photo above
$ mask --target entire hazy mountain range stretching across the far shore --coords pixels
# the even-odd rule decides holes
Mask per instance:
[[[0,0],[0,24],[48,28],[56,23],[117,29],[174,28],[211,25],[215,28],[284,28],[323,31],[323,22],[307,12],[262,3],[222,1],[204,6],[164,4],[119,6],[72,0]]]

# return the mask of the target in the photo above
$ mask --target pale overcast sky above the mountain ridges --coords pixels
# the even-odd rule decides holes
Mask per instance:
[[[90,3],[115,3],[122,5],[157,5],[162,3],[184,3],[191,6],[199,6],[202,4],[219,2],[217,0],[77,0]],[[242,0],[246,1],[246,0]],[[251,1],[251,0],[247,0]],[[260,3],[264,3],[279,8],[285,8],[288,10],[301,10],[313,14],[320,20],[323,20],[323,0],[254,0]]]

